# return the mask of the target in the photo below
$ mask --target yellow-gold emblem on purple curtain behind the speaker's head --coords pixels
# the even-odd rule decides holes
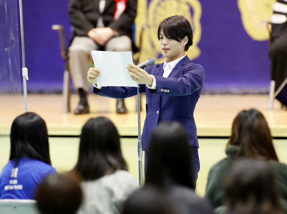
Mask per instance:
[[[183,15],[191,23],[193,29],[193,45],[189,47],[186,52],[187,56],[193,60],[200,55],[200,49],[197,44],[201,38],[200,17],[202,11],[201,4],[198,0],[151,0],[147,11],[142,11],[143,7],[138,7],[138,9],[141,10],[138,10],[138,15],[139,13],[142,15],[146,14],[146,23],[149,25],[149,28],[146,29],[142,37],[140,62],[146,60],[148,57],[154,57],[156,63],[164,62],[157,37],[158,25],[163,19],[173,15]],[[137,25],[136,32],[139,32],[139,27],[143,24],[143,20],[137,17],[135,23]],[[137,43],[138,41],[139,35],[137,34]]]

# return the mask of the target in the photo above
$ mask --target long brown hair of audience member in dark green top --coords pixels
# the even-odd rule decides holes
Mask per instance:
[[[227,145],[239,146],[238,156],[278,161],[267,121],[256,109],[239,112]]]

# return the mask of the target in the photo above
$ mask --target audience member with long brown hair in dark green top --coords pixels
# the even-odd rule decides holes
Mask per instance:
[[[224,180],[239,157],[265,160],[274,170],[287,200],[287,165],[278,161],[268,124],[259,111],[243,110],[235,117],[226,154],[227,157],[213,165],[208,174],[205,196],[214,208],[223,204]]]

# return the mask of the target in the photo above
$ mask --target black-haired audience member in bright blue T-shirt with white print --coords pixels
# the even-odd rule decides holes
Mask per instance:
[[[0,174],[0,198],[34,199],[38,185],[56,173],[51,166],[45,121],[32,112],[16,117],[10,142],[9,162]]]

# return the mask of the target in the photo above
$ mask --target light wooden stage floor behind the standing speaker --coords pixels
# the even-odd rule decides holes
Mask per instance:
[[[78,97],[71,96],[72,110]],[[136,97],[126,98],[128,114],[116,114],[116,100],[89,94],[90,114],[62,113],[61,94],[28,94],[28,111],[36,112],[45,121],[49,135],[79,135],[83,124],[91,117],[105,116],[117,126],[121,136],[137,136]],[[145,119],[145,97],[141,97],[141,128]],[[268,95],[201,95],[194,112],[199,137],[230,136],[231,124],[239,111],[256,108],[261,111],[274,137],[287,137],[287,111],[274,101],[268,110]],[[24,112],[23,95],[0,94],[0,135],[9,135],[14,118]]]

